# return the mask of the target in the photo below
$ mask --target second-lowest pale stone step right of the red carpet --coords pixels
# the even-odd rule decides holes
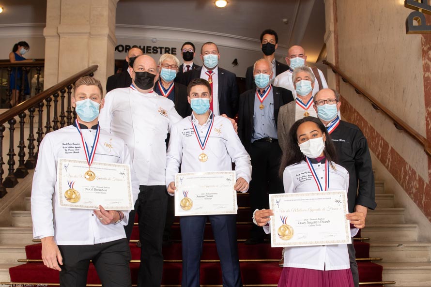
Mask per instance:
[[[430,262],[431,242],[374,241],[370,242],[369,257],[382,257],[380,262]]]

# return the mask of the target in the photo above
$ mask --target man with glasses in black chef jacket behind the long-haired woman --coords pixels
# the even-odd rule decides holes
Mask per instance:
[[[374,210],[374,175],[367,139],[356,125],[339,118],[340,95],[337,91],[323,89],[314,96],[314,110],[327,127],[337,150],[338,164],[349,172],[347,199],[349,212],[362,212],[367,216],[368,208]],[[357,192],[356,192],[357,191]],[[355,287],[359,286],[358,267],[353,244],[348,244],[350,269]]]

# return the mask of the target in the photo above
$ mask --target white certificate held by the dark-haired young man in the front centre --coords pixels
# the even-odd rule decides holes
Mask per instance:
[[[175,216],[236,214],[235,171],[177,173]]]

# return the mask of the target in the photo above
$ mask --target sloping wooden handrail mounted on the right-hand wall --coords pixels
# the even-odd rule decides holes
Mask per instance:
[[[387,117],[393,121],[395,127],[399,130],[405,131],[408,135],[410,135],[414,140],[416,140],[424,149],[425,153],[431,157],[431,143],[415,129],[413,129],[410,125],[408,125],[405,121],[401,120],[398,116],[396,116],[392,111],[385,107],[382,103],[377,101],[374,97],[372,97],[369,93],[362,90],[351,78],[342,73],[338,67],[333,65],[332,63],[323,60],[323,64],[329,66],[335,74],[339,74],[342,80],[346,83],[349,83],[356,91],[357,94],[363,95],[374,109],[381,110]]]

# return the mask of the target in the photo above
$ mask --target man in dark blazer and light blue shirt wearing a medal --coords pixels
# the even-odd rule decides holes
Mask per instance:
[[[256,61],[253,69],[256,89],[240,95],[238,136],[251,157],[250,207],[269,208],[267,192],[283,193],[283,182],[278,177],[281,149],[277,140],[278,109],[293,101],[292,92],[273,87],[271,62]],[[246,244],[263,242],[263,229],[253,225]]]

